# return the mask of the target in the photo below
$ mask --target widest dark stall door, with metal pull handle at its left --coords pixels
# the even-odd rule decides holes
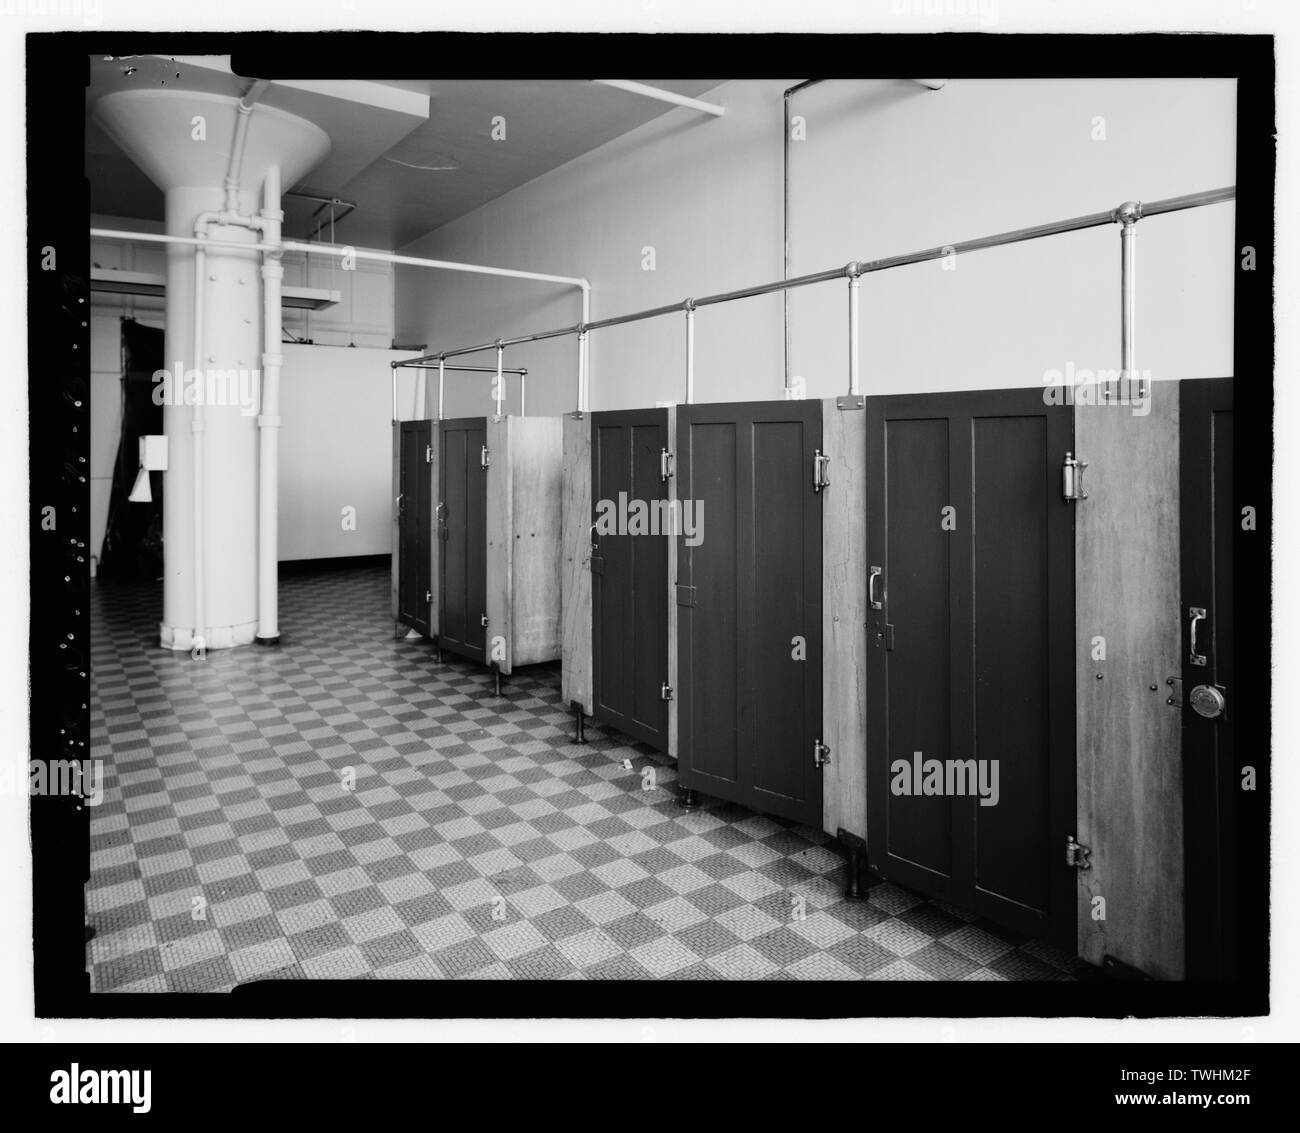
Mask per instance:
[[[867,399],[867,848],[890,880],[1072,950],[1071,413],[1037,390]],[[978,764],[949,774],[970,759],[987,798],[997,760],[996,804],[957,777]]]

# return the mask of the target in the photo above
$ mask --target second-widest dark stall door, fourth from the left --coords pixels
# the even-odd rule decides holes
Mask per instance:
[[[822,822],[820,443],[819,401],[677,409],[677,496],[703,504],[702,542],[677,542],[679,780],[810,826]]]

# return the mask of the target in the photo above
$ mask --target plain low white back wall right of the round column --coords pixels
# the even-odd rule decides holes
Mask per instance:
[[[393,369],[410,351],[283,347],[280,560],[387,555],[393,535]],[[415,413],[416,372],[398,370],[398,412]],[[420,414],[422,416],[422,414]],[[343,526],[354,509],[355,530]]]

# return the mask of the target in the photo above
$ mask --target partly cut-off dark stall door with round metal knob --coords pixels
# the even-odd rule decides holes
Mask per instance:
[[[1232,734],[1232,541],[1240,521],[1232,494],[1232,382],[1180,386],[1187,977],[1230,980],[1239,969],[1243,921],[1239,812],[1249,799]]]

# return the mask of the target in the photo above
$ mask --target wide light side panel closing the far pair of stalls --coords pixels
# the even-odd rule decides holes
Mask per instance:
[[[503,674],[560,656],[562,429],[489,417],[488,660]]]

